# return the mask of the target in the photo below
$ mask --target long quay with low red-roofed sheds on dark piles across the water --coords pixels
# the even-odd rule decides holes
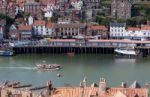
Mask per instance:
[[[134,46],[145,55],[150,55],[150,41],[137,40],[90,40],[90,39],[43,39],[39,41],[22,41],[11,43],[16,54],[22,53],[81,53],[113,54],[118,47]]]

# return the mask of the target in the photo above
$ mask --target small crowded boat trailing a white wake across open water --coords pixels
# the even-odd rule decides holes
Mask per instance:
[[[58,64],[37,64],[36,67],[41,70],[59,70],[60,65]]]

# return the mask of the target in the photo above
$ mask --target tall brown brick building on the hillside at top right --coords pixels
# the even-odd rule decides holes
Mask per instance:
[[[130,0],[112,0],[111,16],[115,18],[130,18],[131,7]]]

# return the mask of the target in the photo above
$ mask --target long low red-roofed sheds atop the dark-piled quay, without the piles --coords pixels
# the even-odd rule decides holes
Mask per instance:
[[[110,47],[137,46],[139,48],[150,48],[150,41],[133,40],[75,40],[75,39],[53,39],[50,41],[28,41],[13,42],[10,47]]]

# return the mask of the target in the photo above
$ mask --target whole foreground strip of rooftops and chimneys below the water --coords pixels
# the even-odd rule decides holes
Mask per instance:
[[[149,97],[149,86],[149,83],[141,86],[134,81],[130,86],[122,82],[118,87],[109,87],[104,78],[100,78],[98,84],[88,85],[85,77],[79,86],[54,87],[52,81],[40,87],[7,83],[0,91],[1,97]]]

